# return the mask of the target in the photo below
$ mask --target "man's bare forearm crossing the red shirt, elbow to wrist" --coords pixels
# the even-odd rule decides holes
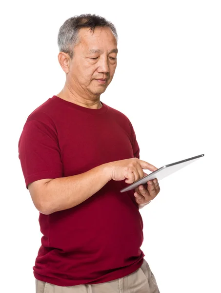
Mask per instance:
[[[110,180],[107,164],[82,174],[52,179],[44,186],[43,213],[50,214],[73,208],[99,191]]]

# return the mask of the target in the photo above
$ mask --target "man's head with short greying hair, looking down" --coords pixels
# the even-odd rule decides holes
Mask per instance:
[[[58,58],[67,86],[99,97],[115,73],[117,40],[115,26],[100,16],[84,14],[65,21],[58,35]]]

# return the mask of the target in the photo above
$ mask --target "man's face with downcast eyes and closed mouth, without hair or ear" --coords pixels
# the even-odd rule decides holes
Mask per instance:
[[[68,83],[79,92],[100,96],[111,83],[117,66],[117,41],[108,27],[79,31],[80,42],[74,48],[67,74]],[[98,79],[107,79],[105,82]]]

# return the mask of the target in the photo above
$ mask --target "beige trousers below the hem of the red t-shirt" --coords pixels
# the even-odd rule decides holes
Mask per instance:
[[[36,293],[160,293],[148,263],[143,259],[141,268],[117,280],[76,286],[57,286],[36,279]]]

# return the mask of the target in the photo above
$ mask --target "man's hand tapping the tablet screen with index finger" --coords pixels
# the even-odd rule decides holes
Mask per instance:
[[[107,163],[110,178],[115,181],[125,180],[125,183],[134,183],[143,178],[145,173],[142,169],[156,171],[158,168],[138,158],[125,159]]]

